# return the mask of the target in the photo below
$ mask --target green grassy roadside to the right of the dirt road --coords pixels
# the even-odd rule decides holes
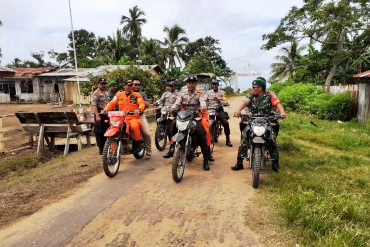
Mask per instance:
[[[266,213],[265,234],[271,240],[266,243],[370,246],[369,130],[300,114],[281,122],[282,169],[264,172],[255,201],[268,208],[257,210]],[[263,230],[258,224],[252,228]]]

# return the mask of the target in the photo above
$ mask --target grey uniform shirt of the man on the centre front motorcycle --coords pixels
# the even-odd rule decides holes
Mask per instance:
[[[195,91],[193,94],[190,94],[186,91],[178,94],[177,99],[171,108],[178,110],[181,106],[185,111],[192,111],[200,107],[206,107],[207,104],[202,93]]]

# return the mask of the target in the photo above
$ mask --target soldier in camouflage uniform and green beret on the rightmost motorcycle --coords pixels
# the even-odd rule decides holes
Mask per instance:
[[[286,117],[286,113],[280,100],[277,98],[276,94],[266,90],[266,81],[262,79],[257,79],[253,81],[252,93],[246,96],[243,103],[239,106],[238,111],[234,113],[237,117],[240,115],[245,107],[248,106],[250,114],[253,116],[269,117],[271,116],[271,111],[273,107],[277,107],[280,112],[281,117]],[[243,169],[243,158],[247,156],[248,143],[246,135],[243,133],[241,136],[239,150],[238,150],[238,161],[235,166],[231,167],[232,170],[237,171]],[[279,171],[279,146],[276,142],[276,133],[273,130],[272,133],[272,143],[269,147],[269,152],[271,157],[274,159],[272,164],[272,170]]]

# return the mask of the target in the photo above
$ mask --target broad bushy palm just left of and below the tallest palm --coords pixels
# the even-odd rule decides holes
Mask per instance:
[[[132,50],[131,43],[127,40],[120,29],[117,29],[116,34],[108,36],[107,40],[101,40],[98,47],[99,55],[109,57],[111,62],[116,64]]]

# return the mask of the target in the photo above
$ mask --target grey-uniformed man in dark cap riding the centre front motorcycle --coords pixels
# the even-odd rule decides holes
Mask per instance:
[[[169,112],[173,110],[178,110],[182,107],[181,110],[184,111],[193,111],[194,109],[200,108],[201,113],[207,110],[207,104],[204,100],[201,93],[195,91],[197,84],[196,76],[189,76],[186,79],[186,86],[188,87],[188,91],[184,91],[178,94],[176,102],[174,105],[169,109]],[[203,169],[206,171],[210,170],[208,160],[209,160],[209,148],[207,145],[206,139],[206,131],[203,128],[201,121],[196,121],[196,135],[199,140],[199,146],[201,147],[201,151],[203,153]],[[176,121],[172,121],[171,124],[171,135],[177,133]],[[168,156],[165,158],[172,157],[174,154],[175,145],[171,144],[170,151],[168,152]]]

